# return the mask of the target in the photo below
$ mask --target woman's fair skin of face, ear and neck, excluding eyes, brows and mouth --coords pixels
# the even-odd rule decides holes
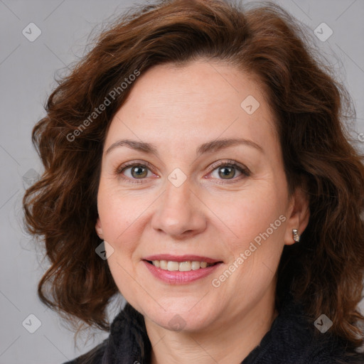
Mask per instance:
[[[260,104],[252,114],[240,106],[249,95]],[[262,151],[237,144],[196,155],[200,144],[236,137],[254,141]],[[155,144],[159,157],[127,146],[106,154],[119,139]],[[250,175],[233,168],[225,179],[224,166],[210,168],[231,160]],[[142,173],[144,183],[127,182],[141,180],[130,167],[117,174],[128,161],[151,164]],[[179,187],[168,180],[175,168],[187,177]],[[152,363],[240,363],[277,316],[279,257],[284,245],[294,243],[292,229],[301,234],[309,220],[301,192],[289,198],[274,117],[259,83],[210,60],[156,65],[141,74],[110,124],[97,201],[97,234],[114,249],[107,261],[119,291],[144,315]],[[280,226],[269,229],[269,237],[213,287],[212,280],[281,215]],[[142,262],[161,253],[201,255],[223,264],[195,282],[168,284]],[[169,321],[177,314],[183,329],[176,331]]]

